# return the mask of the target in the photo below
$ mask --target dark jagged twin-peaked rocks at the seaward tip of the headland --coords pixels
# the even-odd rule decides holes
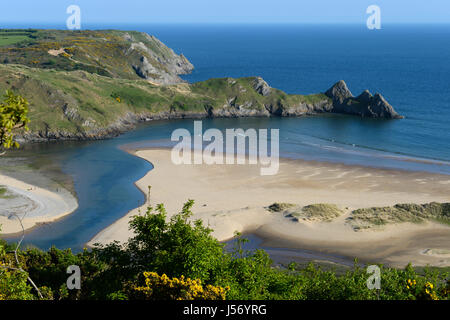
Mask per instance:
[[[379,93],[372,94],[365,90],[354,97],[347,84],[340,80],[325,92],[333,101],[331,112],[358,115],[368,118],[402,119],[394,108]]]

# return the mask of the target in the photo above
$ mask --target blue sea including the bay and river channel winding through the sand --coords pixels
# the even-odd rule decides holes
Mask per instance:
[[[288,93],[308,94],[343,79],[354,95],[364,89],[380,92],[405,119],[209,119],[204,128],[278,128],[282,156],[450,174],[450,25],[384,25],[372,31],[359,25],[85,28],[155,35],[194,64],[194,72],[183,76],[189,82],[254,75]],[[80,208],[36,228],[26,243],[79,250],[142,203],[144,195],[133,183],[151,165],[119,147],[168,145],[171,132],[180,127],[191,129],[192,120],[152,123],[107,141],[35,147],[73,178]]]

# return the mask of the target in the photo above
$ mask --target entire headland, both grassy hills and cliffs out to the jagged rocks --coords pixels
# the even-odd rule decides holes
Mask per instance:
[[[30,102],[30,131],[19,133],[22,142],[102,139],[162,119],[323,113],[402,118],[381,94],[354,96],[342,80],[311,95],[286,94],[260,77],[188,84],[179,75],[193,65],[146,33],[0,34],[10,40],[0,45],[0,91],[13,90]]]

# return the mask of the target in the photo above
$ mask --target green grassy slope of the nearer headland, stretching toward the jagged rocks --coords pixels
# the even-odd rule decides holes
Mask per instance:
[[[0,65],[0,91],[12,89],[30,101],[31,131],[89,131],[107,127],[130,112],[206,113],[205,108],[221,108],[230,98],[237,104],[251,102],[256,110],[280,101],[296,105],[328,99],[321,94],[287,95],[279,90],[264,97],[253,89],[253,80],[226,78],[158,86],[142,79],[118,79],[85,71]]]

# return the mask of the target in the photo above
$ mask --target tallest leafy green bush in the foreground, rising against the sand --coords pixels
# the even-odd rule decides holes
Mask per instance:
[[[145,215],[135,216],[130,228],[135,237],[127,244],[133,264],[139,272],[156,271],[169,277],[184,275],[208,281],[222,264],[223,245],[201,220],[190,221],[193,200],[167,221],[162,204],[148,208]]]

